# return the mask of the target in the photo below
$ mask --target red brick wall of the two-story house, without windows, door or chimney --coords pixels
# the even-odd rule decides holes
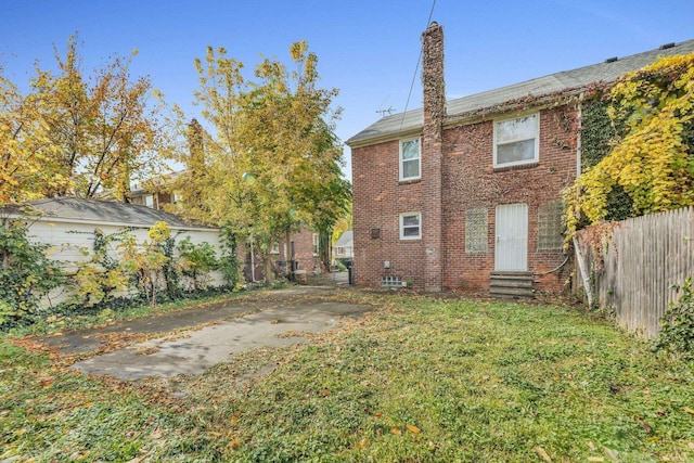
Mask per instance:
[[[512,115],[511,115],[512,116]],[[444,132],[442,279],[445,288],[487,291],[494,266],[494,214],[499,204],[528,205],[528,270],[536,290],[561,291],[566,273],[540,273],[564,260],[562,250],[538,252],[538,207],[561,197],[576,177],[576,112],[560,107],[540,112],[540,155],[532,166],[493,168],[491,120]],[[422,211],[426,222],[424,181],[398,183],[398,141],[352,149],[355,282],[378,285],[393,274],[424,285],[425,252],[420,241],[399,240],[399,214]],[[423,171],[426,158],[423,157]],[[488,252],[465,253],[468,208],[488,211]],[[380,229],[378,239],[371,229]],[[390,270],[383,267],[390,261]]]

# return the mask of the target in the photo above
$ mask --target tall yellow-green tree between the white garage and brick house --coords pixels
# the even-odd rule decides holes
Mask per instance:
[[[351,194],[333,132],[337,91],[318,87],[318,59],[305,41],[290,54],[293,70],[265,59],[254,80],[223,48],[209,47],[195,62],[204,121],[187,127],[189,150],[180,160],[188,170],[174,187],[189,214],[259,252],[270,280],[272,244],[305,224],[327,249]]]

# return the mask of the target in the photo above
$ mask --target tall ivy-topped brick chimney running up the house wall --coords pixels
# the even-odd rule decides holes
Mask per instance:
[[[441,132],[446,117],[444,82],[444,28],[432,23],[422,34],[422,88],[424,126],[422,130],[422,211],[424,245],[424,290],[437,293],[442,287],[444,223],[441,213]]]

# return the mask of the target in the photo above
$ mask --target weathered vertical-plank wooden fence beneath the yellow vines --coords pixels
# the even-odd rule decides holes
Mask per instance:
[[[577,242],[594,304],[628,332],[655,337],[678,299],[672,286],[694,276],[694,207],[593,226]]]

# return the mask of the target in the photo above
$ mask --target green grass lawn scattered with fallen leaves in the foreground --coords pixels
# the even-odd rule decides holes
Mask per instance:
[[[0,338],[0,461],[694,460],[694,366],[580,309],[382,307],[198,376],[86,377]]]

